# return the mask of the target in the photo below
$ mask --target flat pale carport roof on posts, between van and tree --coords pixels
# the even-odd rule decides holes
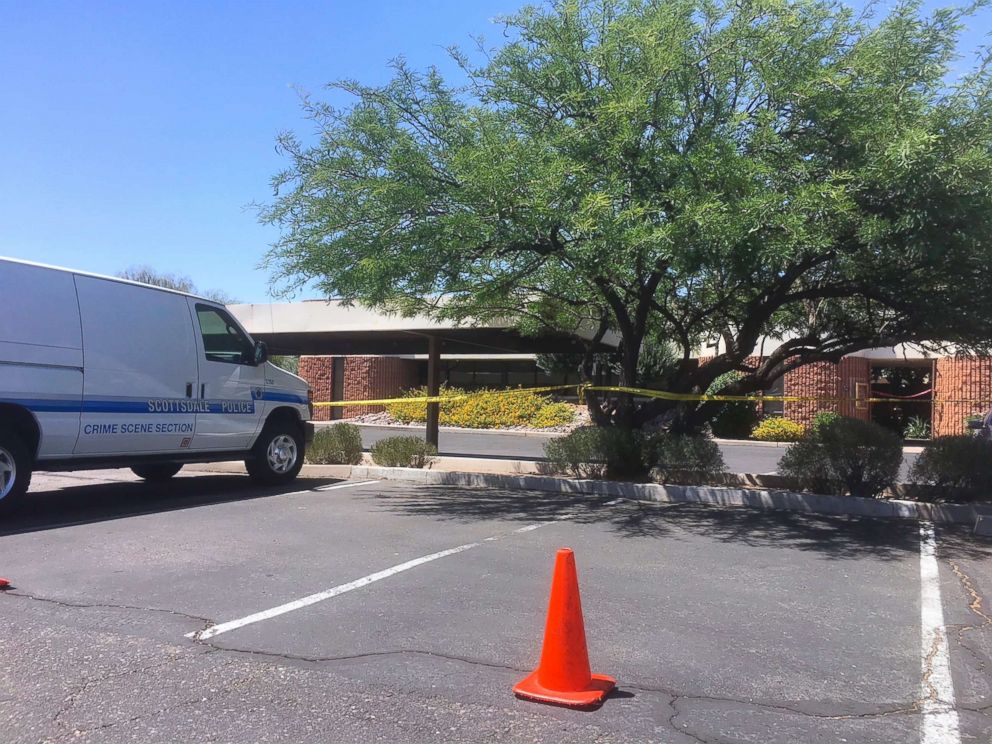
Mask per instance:
[[[581,352],[591,332],[523,336],[509,321],[455,324],[424,316],[403,317],[345,306],[338,300],[269,305],[231,305],[230,311],[253,338],[273,354],[348,356],[423,354],[432,336],[446,354],[536,354]],[[613,350],[619,339],[608,334],[599,344]]]

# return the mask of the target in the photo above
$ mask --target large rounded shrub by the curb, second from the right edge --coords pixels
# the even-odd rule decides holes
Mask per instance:
[[[786,450],[782,475],[821,493],[875,497],[902,464],[902,439],[878,424],[841,417]]]

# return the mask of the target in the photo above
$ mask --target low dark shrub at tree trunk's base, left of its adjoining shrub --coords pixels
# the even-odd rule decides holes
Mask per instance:
[[[544,445],[550,468],[576,478],[643,478],[644,435],[631,429],[584,426]]]

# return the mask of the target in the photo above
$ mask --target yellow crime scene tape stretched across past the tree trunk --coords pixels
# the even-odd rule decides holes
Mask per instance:
[[[901,398],[822,398],[804,395],[706,395],[702,393],[671,393],[667,390],[651,390],[649,388],[622,387],[619,385],[551,385],[547,387],[532,388],[510,388],[507,390],[486,390],[474,393],[461,393],[459,395],[422,395],[414,398],[377,398],[372,400],[335,400],[321,401],[314,403],[315,408],[340,408],[345,406],[385,406],[391,403],[451,403],[454,401],[466,400],[480,395],[519,395],[521,393],[554,393],[574,390],[578,395],[579,402],[585,400],[586,393],[620,393],[633,395],[640,398],[659,398],[661,400],[672,400],[679,402],[744,402],[744,403],[855,403],[865,405],[868,403],[901,403],[913,402],[911,399]],[[923,400],[921,403],[932,404],[966,404],[985,405],[992,404],[992,400]]]

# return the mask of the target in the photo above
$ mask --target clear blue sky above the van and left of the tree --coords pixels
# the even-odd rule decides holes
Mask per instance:
[[[381,82],[398,55],[444,69],[522,4],[0,0],[0,255],[266,301],[275,231],[249,204],[285,164],[276,135],[306,133],[296,89]]]

